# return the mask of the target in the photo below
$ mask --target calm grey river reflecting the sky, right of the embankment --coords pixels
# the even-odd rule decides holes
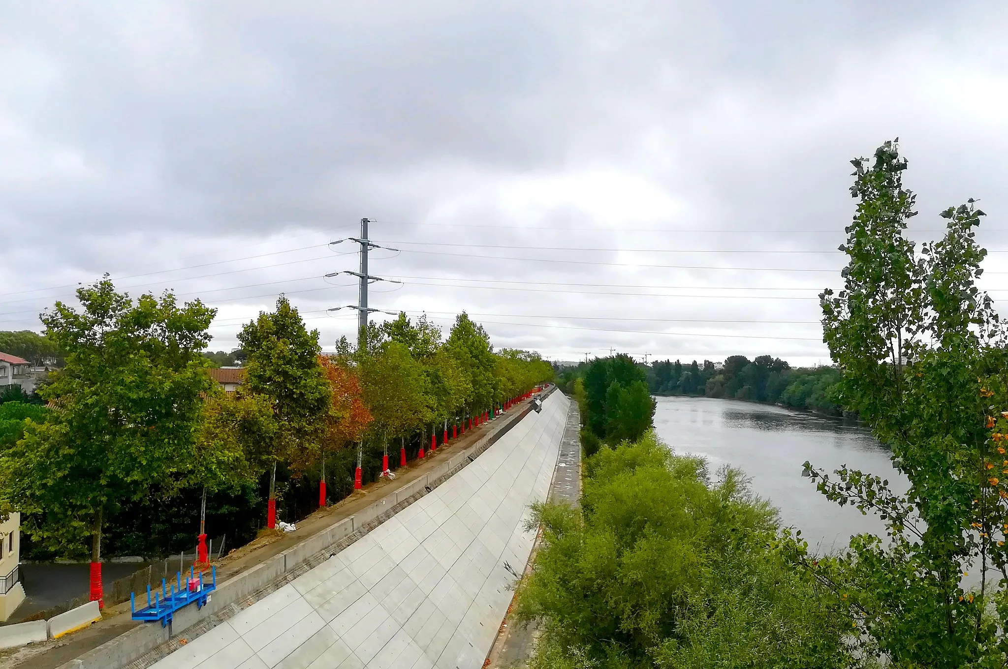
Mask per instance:
[[[752,480],[753,491],[780,510],[783,524],[801,530],[809,549],[831,552],[852,534],[884,536],[883,524],[853,507],[840,507],[801,477],[801,464],[833,472],[842,464],[908,487],[889,450],[856,424],[766,404],[703,397],[658,397],[655,431],[675,452],[707,458],[712,476],[731,464]]]

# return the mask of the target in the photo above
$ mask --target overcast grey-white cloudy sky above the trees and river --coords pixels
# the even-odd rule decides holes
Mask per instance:
[[[404,282],[372,306],[497,347],[828,363],[848,161],[886,139],[915,239],[982,199],[1008,298],[1006,7],[4,3],[0,329],[109,272],[218,307],[215,350],[284,292],[332,350],[368,217]]]

